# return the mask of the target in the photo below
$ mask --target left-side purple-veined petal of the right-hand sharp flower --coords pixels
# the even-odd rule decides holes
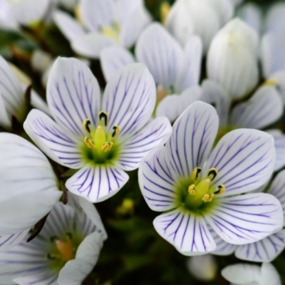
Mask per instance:
[[[166,147],[156,147],[142,159],[138,181],[150,209],[162,212],[175,207],[177,180]]]

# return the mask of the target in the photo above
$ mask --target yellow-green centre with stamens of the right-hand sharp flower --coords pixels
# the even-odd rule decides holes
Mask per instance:
[[[203,215],[218,204],[216,195],[224,193],[225,187],[212,185],[212,180],[218,175],[215,168],[209,169],[204,179],[200,175],[201,171],[201,168],[196,167],[191,177],[180,180],[175,186],[175,193],[177,207]]]

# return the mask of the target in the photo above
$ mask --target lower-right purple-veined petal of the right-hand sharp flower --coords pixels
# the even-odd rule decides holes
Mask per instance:
[[[225,242],[249,244],[279,231],[283,210],[273,195],[254,193],[221,199],[205,218]]]

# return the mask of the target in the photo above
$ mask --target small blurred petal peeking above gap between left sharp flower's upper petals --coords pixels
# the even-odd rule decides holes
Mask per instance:
[[[100,63],[105,81],[109,81],[118,69],[134,62],[135,59],[132,53],[122,46],[110,46],[109,48],[104,48],[100,53]]]

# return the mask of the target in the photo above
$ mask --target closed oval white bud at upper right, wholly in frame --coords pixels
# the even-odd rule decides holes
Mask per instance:
[[[257,33],[239,19],[214,36],[207,55],[207,73],[232,98],[247,95],[258,81]]]

